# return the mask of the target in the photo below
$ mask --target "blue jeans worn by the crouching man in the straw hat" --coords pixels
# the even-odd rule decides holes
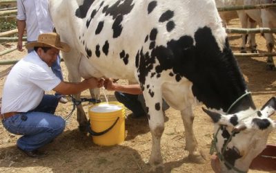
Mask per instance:
[[[33,151],[50,143],[63,132],[65,120],[53,114],[58,103],[55,95],[44,95],[34,110],[2,120],[3,127],[10,133],[23,135],[17,140],[17,147]]]

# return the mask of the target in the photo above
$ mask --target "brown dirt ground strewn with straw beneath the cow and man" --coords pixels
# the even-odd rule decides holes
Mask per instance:
[[[230,21],[229,27],[239,27],[239,21]],[[239,53],[240,35],[229,35],[233,51]],[[259,52],[266,52],[266,42],[257,35]],[[0,44],[0,52],[15,46],[15,43]],[[0,60],[14,60],[26,55],[26,52],[13,51],[0,57]],[[276,93],[276,71],[266,71],[265,57],[239,57],[239,66],[253,100],[258,108]],[[276,62],[276,61],[275,61]],[[68,72],[61,63],[63,75],[67,80]],[[0,66],[0,73],[10,65]],[[0,79],[0,89],[6,77]],[[120,80],[119,82],[126,82]],[[1,93],[0,93],[1,94]],[[88,97],[88,91],[82,93]],[[101,95],[102,100],[103,95]],[[112,92],[108,92],[109,100],[115,100]],[[83,103],[86,113],[90,103]],[[179,111],[166,111],[165,131],[161,138],[161,153],[164,158],[165,172],[213,172],[210,167],[211,136],[213,122],[201,111],[202,105],[195,107],[194,130],[199,148],[206,153],[206,163],[195,164],[188,161],[188,152],[185,147],[185,131]],[[59,104],[56,114],[66,117],[72,110],[72,102]],[[126,114],[130,113],[129,110]],[[90,136],[81,134],[78,130],[76,111],[69,119],[66,129],[52,143],[43,147],[48,157],[36,159],[28,158],[16,148],[19,136],[8,133],[0,123],[0,172],[148,172],[148,159],[151,148],[151,135],[146,118],[133,120],[126,119],[127,136],[124,143],[113,147],[101,147],[92,143]],[[270,134],[268,143],[276,143],[276,134]],[[262,172],[250,170],[249,172]]]

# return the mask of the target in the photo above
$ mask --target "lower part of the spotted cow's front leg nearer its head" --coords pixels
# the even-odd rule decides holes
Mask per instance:
[[[193,122],[195,118],[193,107],[190,106],[182,110],[181,116],[185,128],[185,149],[189,152],[188,158],[195,163],[204,163],[204,158],[201,156],[201,152],[199,152],[199,149],[197,148],[197,140],[193,131]]]

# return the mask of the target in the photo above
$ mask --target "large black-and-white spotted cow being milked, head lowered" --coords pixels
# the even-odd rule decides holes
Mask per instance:
[[[71,80],[105,76],[141,85],[152,134],[152,170],[164,166],[162,98],[181,111],[193,161],[203,160],[193,132],[195,102],[204,103],[215,122],[222,172],[247,171],[266,147],[275,128],[268,116],[276,99],[256,109],[214,0],[50,0],[50,14],[72,48],[63,55]],[[80,125],[87,122],[83,117]]]

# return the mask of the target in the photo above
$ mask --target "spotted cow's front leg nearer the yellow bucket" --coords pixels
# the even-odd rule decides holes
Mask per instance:
[[[152,171],[163,172],[163,159],[160,151],[161,136],[164,131],[164,113],[162,111],[161,92],[155,93],[152,98],[148,92],[144,92],[146,105],[148,109],[148,122],[150,133],[152,135],[152,149],[149,163],[152,166]]]

